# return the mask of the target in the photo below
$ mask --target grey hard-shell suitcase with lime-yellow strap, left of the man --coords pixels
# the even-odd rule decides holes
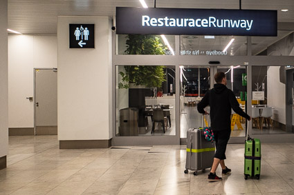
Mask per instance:
[[[204,125],[203,125],[204,126]],[[203,128],[187,130],[187,156],[185,174],[188,170],[194,171],[210,168],[213,163],[215,145],[204,138]]]

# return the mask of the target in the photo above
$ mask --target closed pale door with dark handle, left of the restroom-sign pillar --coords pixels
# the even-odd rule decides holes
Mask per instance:
[[[35,69],[35,132],[57,134],[57,69]]]

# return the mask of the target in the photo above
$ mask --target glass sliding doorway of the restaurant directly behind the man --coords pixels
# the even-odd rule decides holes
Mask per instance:
[[[228,84],[227,88],[234,92],[240,107],[247,112],[246,83],[242,80],[247,75],[247,67],[240,65],[186,65],[180,66],[180,86],[181,86],[181,142],[185,143],[186,134],[189,128],[210,126],[210,116],[199,114],[196,109],[197,104],[208,90],[213,88],[215,72],[225,72]],[[209,112],[210,107],[205,110]],[[246,119],[239,116],[232,110],[231,115],[231,137],[245,137]]]

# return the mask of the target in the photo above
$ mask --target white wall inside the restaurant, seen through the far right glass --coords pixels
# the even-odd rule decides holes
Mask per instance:
[[[286,91],[285,84],[279,82],[279,66],[270,66],[267,75],[268,106],[275,107],[272,119],[286,124]]]

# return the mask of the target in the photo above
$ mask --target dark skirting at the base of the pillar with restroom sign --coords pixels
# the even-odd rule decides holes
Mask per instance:
[[[60,140],[59,149],[91,149],[111,147],[111,139],[108,140]]]

